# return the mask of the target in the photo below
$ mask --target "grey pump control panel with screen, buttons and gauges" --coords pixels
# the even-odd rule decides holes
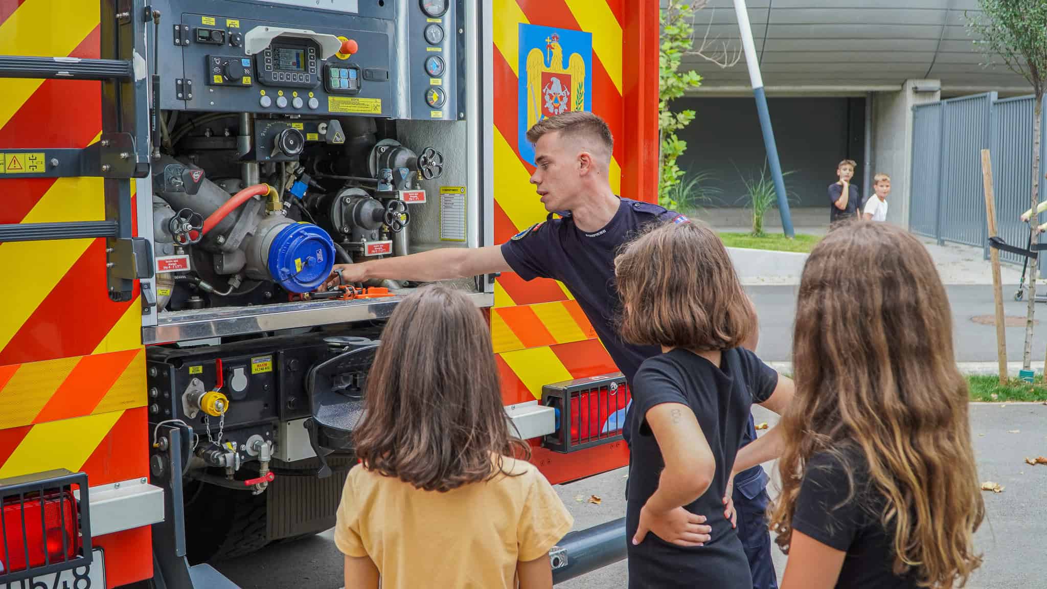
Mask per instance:
[[[458,119],[464,92],[455,2],[158,0],[165,110]],[[325,4],[336,6],[338,3]],[[433,17],[433,14],[439,16]],[[177,19],[177,22],[175,22]]]

